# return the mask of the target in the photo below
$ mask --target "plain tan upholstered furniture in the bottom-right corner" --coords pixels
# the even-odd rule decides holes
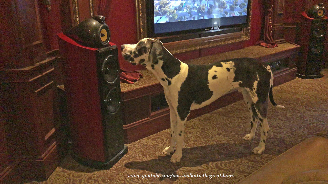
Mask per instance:
[[[277,156],[237,184],[326,184],[327,175],[328,139],[313,137]]]

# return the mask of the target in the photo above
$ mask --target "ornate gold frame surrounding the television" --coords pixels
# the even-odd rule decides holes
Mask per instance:
[[[137,41],[147,37],[145,1],[146,0],[135,1],[137,19]],[[248,2],[248,6],[250,7],[248,13],[249,17],[247,19],[248,23],[247,27],[243,28],[242,31],[165,43],[165,48],[167,48],[172,54],[174,54],[249,40],[251,35],[250,27],[252,16],[252,0],[248,0]]]

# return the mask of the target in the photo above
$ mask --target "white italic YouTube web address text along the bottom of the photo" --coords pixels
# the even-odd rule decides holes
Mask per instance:
[[[141,177],[141,178],[145,178],[145,177],[159,177],[159,178],[175,178],[175,177],[208,177],[208,178],[212,178],[212,177],[235,177],[235,175],[226,175],[226,174],[217,174],[217,175],[208,175],[208,174],[192,174],[190,173],[189,175],[176,175],[176,174],[170,174],[170,175],[163,175],[163,174],[150,174],[150,175],[128,175],[128,177]]]

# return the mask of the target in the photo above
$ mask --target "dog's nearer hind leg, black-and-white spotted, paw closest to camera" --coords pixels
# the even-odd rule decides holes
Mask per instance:
[[[258,119],[260,120],[260,142],[256,148],[253,149],[253,153],[261,155],[265,149],[265,141],[269,132],[269,124],[267,119],[267,108],[268,108],[268,99],[264,102],[255,103],[256,112]]]

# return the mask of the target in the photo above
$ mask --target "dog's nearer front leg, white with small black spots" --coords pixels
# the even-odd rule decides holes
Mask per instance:
[[[182,157],[185,123],[186,119],[180,120],[180,118],[177,118],[176,120],[176,129],[174,130],[174,135],[176,137],[176,150],[171,157],[171,162],[174,163],[179,162]]]

